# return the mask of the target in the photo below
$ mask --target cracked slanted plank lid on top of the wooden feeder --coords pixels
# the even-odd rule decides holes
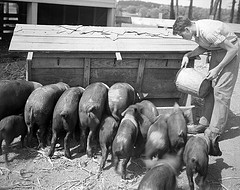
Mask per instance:
[[[164,28],[17,24],[10,51],[41,52],[186,52],[193,41]]]

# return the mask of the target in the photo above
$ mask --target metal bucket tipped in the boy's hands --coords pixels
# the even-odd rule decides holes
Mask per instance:
[[[178,71],[175,80],[178,91],[204,98],[212,88],[210,80],[194,68],[182,68]]]

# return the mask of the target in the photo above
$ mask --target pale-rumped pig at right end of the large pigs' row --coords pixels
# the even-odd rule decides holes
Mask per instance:
[[[117,121],[120,121],[122,112],[128,106],[139,101],[135,89],[128,83],[115,83],[108,91],[107,109]]]

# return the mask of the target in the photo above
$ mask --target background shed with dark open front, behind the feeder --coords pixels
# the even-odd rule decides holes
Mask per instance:
[[[114,26],[116,0],[3,0],[0,40],[15,24]]]

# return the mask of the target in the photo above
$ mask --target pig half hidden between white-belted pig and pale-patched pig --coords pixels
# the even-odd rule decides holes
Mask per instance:
[[[138,119],[140,131],[138,133],[134,148],[134,157],[140,157],[145,151],[144,149],[147,141],[147,133],[149,127],[158,117],[158,110],[156,106],[149,100],[143,100],[131,106],[135,107],[140,115]]]

